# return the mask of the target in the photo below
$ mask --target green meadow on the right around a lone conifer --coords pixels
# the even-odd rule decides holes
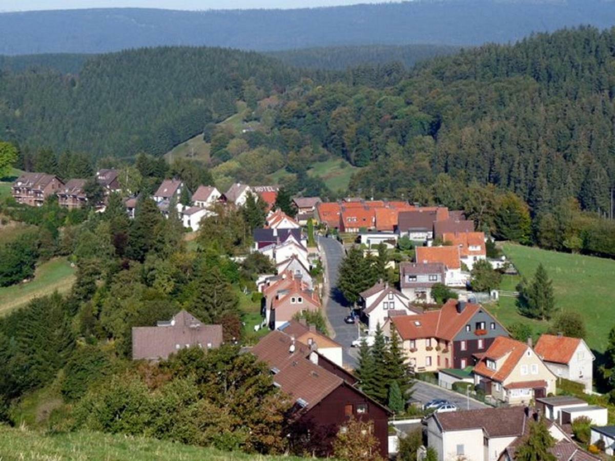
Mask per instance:
[[[538,264],[542,263],[553,280],[555,305],[560,312],[581,313],[587,329],[585,341],[592,349],[604,352],[609,331],[615,326],[615,261],[509,243],[504,245],[504,253],[519,274],[528,280],[534,277]],[[515,290],[519,280],[520,277],[504,276],[502,290]],[[528,323],[538,333],[548,328],[547,322],[522,317],[512,297],[501,297],[499,305],[490,309],[505,326]]]

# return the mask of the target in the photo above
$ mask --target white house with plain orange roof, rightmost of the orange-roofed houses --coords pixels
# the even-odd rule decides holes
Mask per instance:
[[[534,348],[555,376],[580,382],[585,392],[592,391],[593,361],[587,343],[577,337],[543,334]]]

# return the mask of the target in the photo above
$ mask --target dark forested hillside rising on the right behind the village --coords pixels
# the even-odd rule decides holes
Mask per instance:
[[[582,28],[436,58],[383,90],[314,87],[285,102],[277,127],[367,166],[351,184],[366,195],[457,207],[455,187],[422,195],[448,173],[512,190],[534,212],[564,197],[604,212],[614,97],[615,30]]]

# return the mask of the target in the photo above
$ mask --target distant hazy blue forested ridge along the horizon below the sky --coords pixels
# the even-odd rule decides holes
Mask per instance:
[[[224,4],[221,4],[224,6]],[[605,0],[415,0],[295,10],[90,9],[0,14],[0,54],[102,53],[160,45],[252,50],[355,44],[480,45],[613,25]]]

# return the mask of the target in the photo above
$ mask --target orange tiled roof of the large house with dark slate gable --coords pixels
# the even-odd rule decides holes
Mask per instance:
[[[471,302],[467,302],[464,309],[458,312],[458,303],[456,299],[449,299],[439,310],[431,310],[419,315],[393,317],[392,321],[404,340],[437,337],[445,341],[453,341],[475,313],[479,310],[488,313],[482,305]]]

